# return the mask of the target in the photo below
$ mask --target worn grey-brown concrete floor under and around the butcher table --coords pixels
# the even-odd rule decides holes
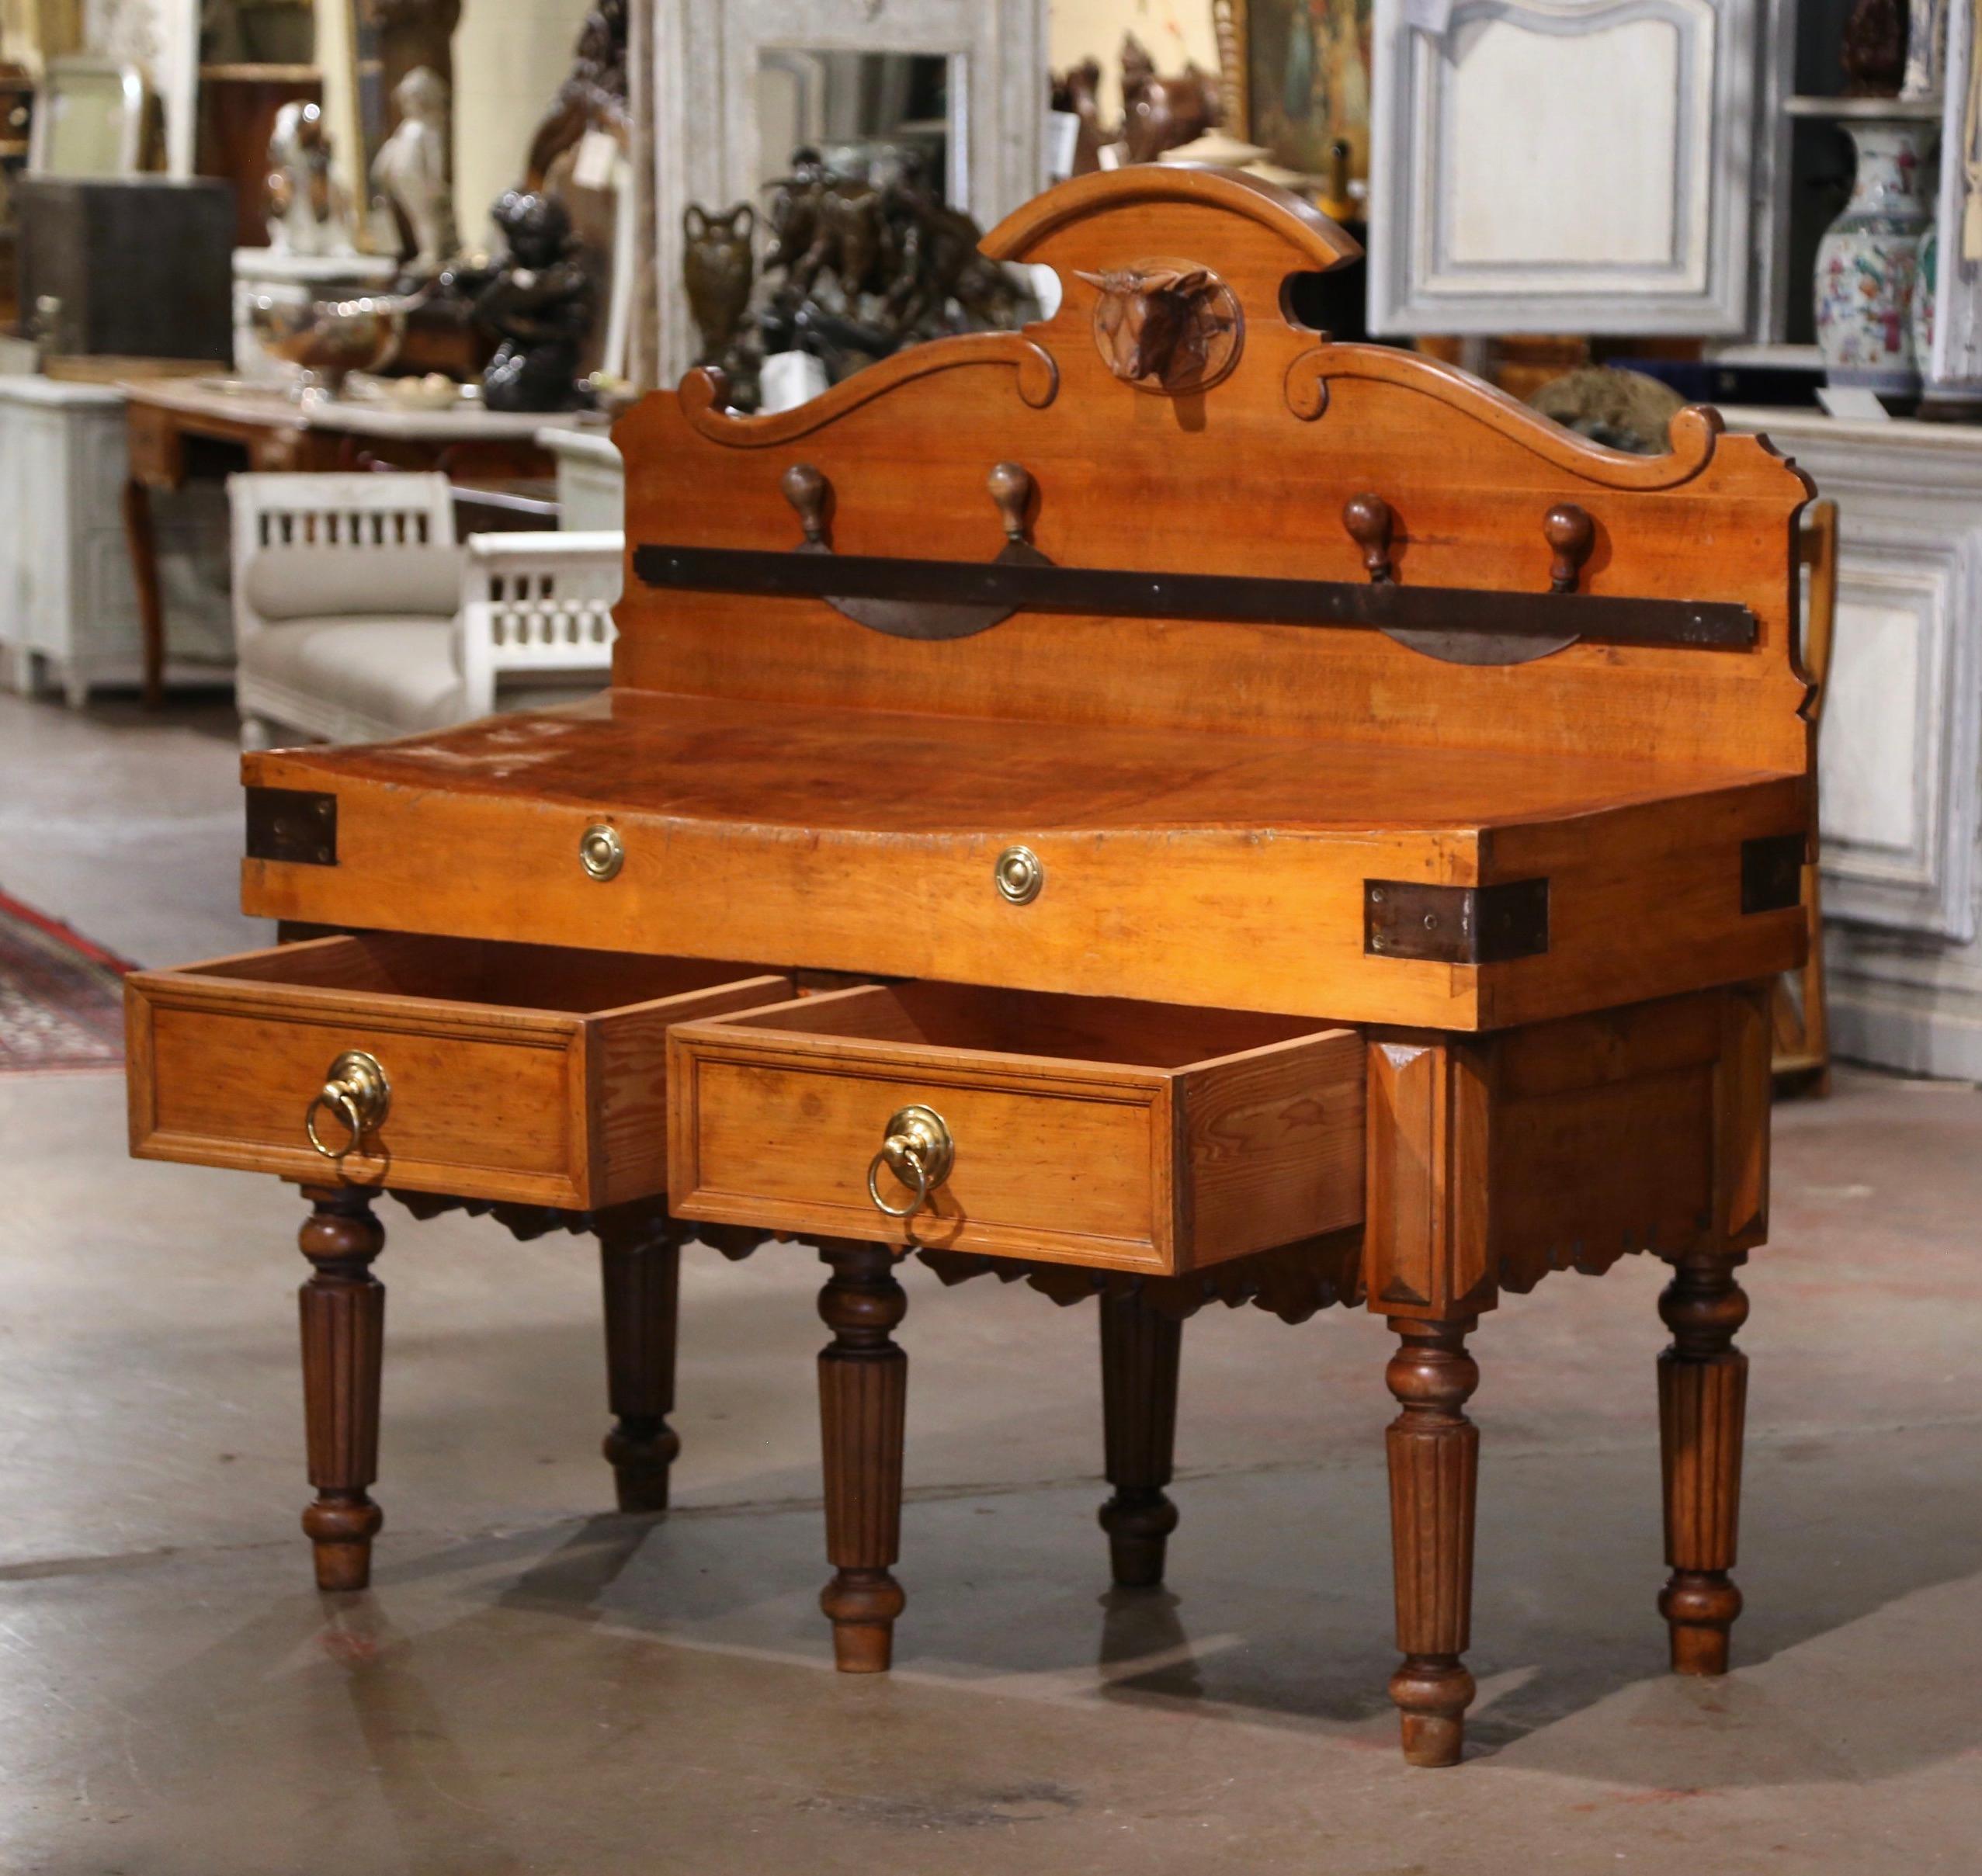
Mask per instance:
[[[224,951],[222,713],[0,699],[0,886]],[[129,1876],[1982,1868],[1982,1099],[1778,1121],[1736,1628],[1663,1674],[1657,1266],[1488,1317],[1471,1757],[1395,1753],[1387,1337],[1185,1335],[1163,1593],[1106,1593],[1090,1309],[908,1272],[908,1613],[846,1680],[817,1262],[692,1250],[678,1510],[603,1515],[583,1240],[388,1208],[377,1587],[319,1599],[272,1181],[123,1157],[109,1074],[0,1078],[0,1868]]]

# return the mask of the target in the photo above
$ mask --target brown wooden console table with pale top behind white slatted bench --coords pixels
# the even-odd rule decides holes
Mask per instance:
[[[188,475],[228,469],[442,469],[503,483],[541,481],[555,458],[539,430],[587,418],[505,414],[480,406],[392,410],[361,400],[297,404],[279,390],[234,378],[131,378],[119,386],[131,434],[125,537],[145,626],[145,703],[163,701],[165,598],[151,491]]]

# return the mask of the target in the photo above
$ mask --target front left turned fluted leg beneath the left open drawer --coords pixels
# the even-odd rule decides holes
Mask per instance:
[[[385,1284],[371,1262],[385,1226],[351,1187],[303,1187],[309,1218],[297,1246],[311,1262],[303,1315],[303,1424],[315,1504],[303,1531],[315,1545],[317,1589],[363,1589],[385,1513],[367,1488],[379,1476],[379,1365]]]

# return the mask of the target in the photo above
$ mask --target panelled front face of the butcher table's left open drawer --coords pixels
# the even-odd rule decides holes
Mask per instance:
[[[303,1117],[345,1050],[377,1058],[390,1107],[361,1151],[333,1169],[309,1145]],[[145,1054],[149,1111],[133,1143],[145,1157],[311,1181],[341,1173],[351,1185],[462,1197],[589,1202],[575,1022],[496,1040],[163,1004],[151,1010]],[[137,1094],[133,1086],[133,1099]],[[343,1139],[335,1115],[319,1111],[317,1125],[327,1143]]]

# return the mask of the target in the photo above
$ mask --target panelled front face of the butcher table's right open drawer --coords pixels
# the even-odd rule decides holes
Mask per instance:
[[[1169,1092],[985,1086],[799,1062],[676,1058],[692,1167],[670,1167],[684,1218],[1003,1256],[1171,1266]],[[886,1218],[866,1175],[900,1107],[934,1107],[955,1141],[949,1177],[912,1220]],[[882,1191],[910,1189],[882,1169]]]

